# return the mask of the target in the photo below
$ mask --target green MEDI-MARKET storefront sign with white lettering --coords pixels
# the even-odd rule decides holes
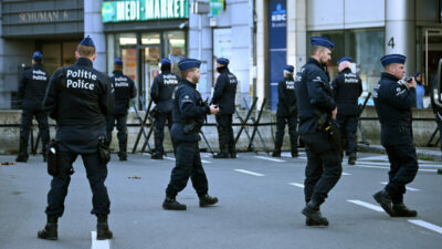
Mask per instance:
[[[127,0],[102,3],[103,23],[180,18],[189,18],[189,0]]]

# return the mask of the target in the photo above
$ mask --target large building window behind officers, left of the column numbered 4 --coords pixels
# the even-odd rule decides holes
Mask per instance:
[[[328,64],[330,79],[334,79],[338,74],[336,64],[337,60],[345,55],[349,55],[354,59],[356,65],[354,70],[362,80],[364,93],[360,101],[364,101],[368,92],[372,92],[373,86],[380,80],[380,73],[383,71],[382,65],[379,62],[379,59],[383,56],[385,53],[383,29],[308,32],[308,51],[311,49],[311,37],[326,37],[336,44],[332,53],[332,61]],[[372,105],[372,100],[370,100],[368,104]]]

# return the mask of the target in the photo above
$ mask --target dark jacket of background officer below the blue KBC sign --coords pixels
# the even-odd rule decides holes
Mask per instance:
[[[296,105],[296,92],[295,92],[295,80],[293,76],[284,77],[277,84],[277,110],[276,115],[278,116],[292,116],[296,115],[290,113],[290,108]]]

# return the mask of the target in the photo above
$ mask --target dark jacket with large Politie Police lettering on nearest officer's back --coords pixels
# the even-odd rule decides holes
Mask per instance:
[[[80,58],[56,70],[43,103],[56,121],[56,141],[75,153],[96,153],[114,100],[109,79],[93,69],[91,60]]]

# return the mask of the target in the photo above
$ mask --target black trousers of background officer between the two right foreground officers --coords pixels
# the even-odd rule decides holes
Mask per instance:
[[[339,125],[340,135],[343,139],[346,142],[343,143],[344,148],[347,148],[347,152],[356,153],[356,132],[358,129],[358,117],[356,115],[337,115],[336,121]]]

